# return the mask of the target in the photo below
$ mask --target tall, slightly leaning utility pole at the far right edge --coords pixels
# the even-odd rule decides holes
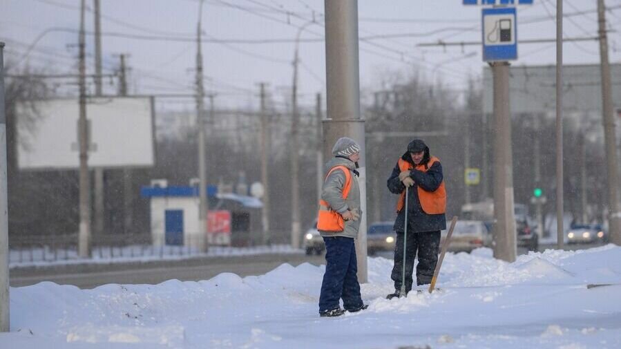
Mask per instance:
[[[604,142],[606,143],[606,174],[608,175],[608,232],[610,242],[621,245],[621,209],[619,208],[619,173],[617,167],[617,141],[611,99],[608,37],[606,34],[606,8],[598,0],[598,32],[600,34],[600,59],[602,68],[602,113]]]

